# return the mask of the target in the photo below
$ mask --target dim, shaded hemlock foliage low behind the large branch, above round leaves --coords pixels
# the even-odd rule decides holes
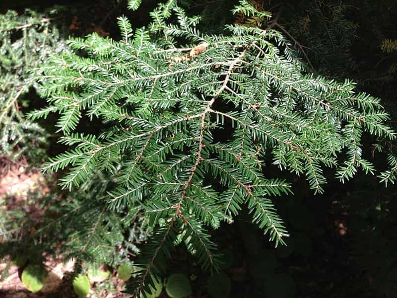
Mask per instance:
[[[76,273],[80,273],[82,262],[85,269],[100,264],[112,267],[132,264],[130,255],[140,252],[137,245],[147,239],[151,229],[139,206],[108,210],[106,189],[112,183],[112,179],[96,173],[78,191],[59,199],[52,194],[43,197],[40,191],[30,194],[32,203],[26,206],[31,210],[29,214],[1,208],[0,256],[10,255],[12,259],[23,256],[31,263],[40,264],[43,254],[62,255],[65,261],[76,261]],[[35,207],[37,202],[40,205]],[[34,212],[37,208],[42,211]],[[38,212],[43,216],[38,218]]]

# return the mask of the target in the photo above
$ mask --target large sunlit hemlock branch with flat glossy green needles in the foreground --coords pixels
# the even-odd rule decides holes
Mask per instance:
[[[138,9],[139,3],[129,6]],[[120,17],[120,41],[97,34],[70,39],[70,50],[33,72],[49,106],[30,118],[59,113],[61,142],[71,147],[44,169],[67,168],[67,189],[98,175],[112,177],[100,199],[92,196],[101,210],[82,214],[91,228],[75,237],[81,239],[77,247],[86,252],[92,239],[91,254],[105,257],[106,247],[97,249],[104,248],[112,221],[102,221],[102,214],[132,219],[139,210],[150,221],[153,234],[130,288],[134,297],[150,292],[173,246],[182,242],[203,269],[218,270],[209,229],[231,222],[243,204],[275,245],[285,243],[288,233],[271,198],[290,193],[290,185],[266,178],[269,160],[304,175],[322,193],[325,167],[335,168],[341,182],[358,169],[375,172],[363,157],[363,134],[377,141],[396,138],[379,99],[356,93],[350,80],[310,74],[271,25],[270,13],[244,0],[233,12],[261,20],[259,26],[234,24],[223,33],[203,33],[199,16],[188,16],[168,0],[150,13],[148,28],[133,31]],[[76,132],[83,117],[103,120],[103,133]],[[389,164],[380,177],[394,183],[392,153]]]

